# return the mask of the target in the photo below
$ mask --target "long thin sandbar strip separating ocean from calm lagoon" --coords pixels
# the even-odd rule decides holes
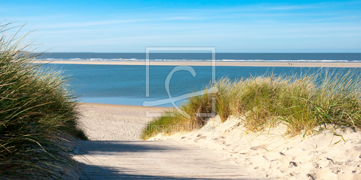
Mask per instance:
[[[33,63],[51,63],[51,64],[108,64],[108,65],[145,65],[145,61],[78,61],[78,60],[64,60],[64,61],[48,61],[35,60]],[[291,63],[290,63],[291,64]],[[157,66],[212,66],[212,62],[149,62],[149,65]],[[320,63],[320,62],[292,62],[292,66],[288,62],[216,62],[216,66],[268,66],[268,67],[361,67],[360,63]]]

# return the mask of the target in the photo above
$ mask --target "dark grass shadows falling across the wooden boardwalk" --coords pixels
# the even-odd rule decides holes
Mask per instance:
[[[182,152],[190,152],[190,150],[194,150],[187,147],[181,147],[174,144],[169,144],[166,142],[155,142],[155,141],[81,141],[81,147],[79,147],[78,155],[90,155],[93,157],[104,157],[104,156],[118,156],[122,157],[123,154],[128,154],[125,156],[135,156],[137,157],[142,153],[177,153],[179,151]],[[184,151],[186,150],[186,151]],[[133,154],[134,153],[134,154]],[[196,152],[193,152],[196,153]],[[201,153],[201,152],[199,152]],[[144,156],[144,154],[142,154]],[[84,157],[85,158],[85,157]],[[179,177],[179,176],[158,176],[158,175],[142,175],[141,172],[146,172],[146,169],[142,169],[139,165],[134,165],[134,168],[122,167],[121,165],[112,165],[110,163],[106,165],[90,165],[81,163],[81,169],[83,171],[83,175],[80,176],[79,180],[227,180],[232,179],[232,174],[230,176],[216,176],[206,178],[206,176],[202,177]],[[202,167],[199,167],[202,168]],[[151,170],[150,170],[151,171]],[[200,170],[202,171],[202,170]],[[184,171],[185,174],[189,172]],[[147,173],[148,174],[148,173]],[[170,171],[171,174],[171,171]],[[177,173],[179,175],[179,172]],[[162,173],[164,175],[164,172]],[[239,174],[238,174],[239,175]],[[238,176],[239,177],[239,176]],[[246,177],[246,176],[245,176]],[[253,180],[248,178],[238,178],[238,180]],[[232,179],[236,180],[236,179]]]

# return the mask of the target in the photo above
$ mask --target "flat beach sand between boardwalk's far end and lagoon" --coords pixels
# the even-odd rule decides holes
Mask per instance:
[[[169,108],[136,105],[82,103],[81,123],[90,140],[140,140],[145,124],[152,117],[145,111],[161,113]]]

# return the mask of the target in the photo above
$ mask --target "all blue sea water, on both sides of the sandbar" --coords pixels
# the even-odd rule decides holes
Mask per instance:
[[[79,60],[79,61],[144,61],[145,53],[43,53],[38,59]],[[210,61],[211,53],[150,53],[150,61]],[[361,53],[216,53],[217,61],[229,62],[360,62]],[[44,68],[56,68],[69,76],[69,88],[79,96],[79,101],[88,103],[143,105],[144,101],[156,101],[177,97],[205,88],[212,80],[212,67],[191,67],[190,71],[174,72],[166,90],[166,78],[175,66],[149,66],[149,96],[146,96],[144,65],[106,64],[45,64]],[[257,75],[275,76],[318,71],[320,67],[252,67],[217,66],[216,80]],[[333,68],[331,68],[333,69]],[[339,68],[335,68],[339,69]],[[350,68],[342,68],[348,71]],[[186,99],[175,104],[184,103]],[[173,107],[171,103],[158,104],[160,107]]]

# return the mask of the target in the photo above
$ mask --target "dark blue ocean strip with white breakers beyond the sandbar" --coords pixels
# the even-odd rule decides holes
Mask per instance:
[[[145,53],[44,53],[47,60],[142,61]],[[149,53],[151,61],[209,61],[211,53]],[[216,53],[217,61],[233,62],[361,62],[361,53]]]

